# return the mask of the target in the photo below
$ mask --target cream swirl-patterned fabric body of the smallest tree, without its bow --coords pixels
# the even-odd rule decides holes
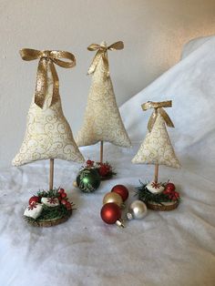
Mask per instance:
[[[158,114],[155,124],[132,159],[135,164],[159,164],[179,168],[179,160],[169,140],[163,117]]]

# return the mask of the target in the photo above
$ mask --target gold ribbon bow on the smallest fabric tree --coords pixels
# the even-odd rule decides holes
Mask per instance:
[[[162,102],[152,102],[152,101],[148,101],[144,104],[142,104],[142,109],[144,111],[150,109],[150,108],[154,108],[154,111],[152,113],[152,115],[150,116],[149,120],[148,120],[148,131],[150,132],[151,129],[153,128],[154,124],[155,124],[155,120],[158,117],[158,114],[161,115],[161,117],[164,118],[164,121],[166,122],[167,126],[169,126],[169,128],[174,128],[174,124],[172,123],[169,115],[167,114],[167,112],[163,109],[163,107],[171,107],[171,100],[168,101],[162,101]]]

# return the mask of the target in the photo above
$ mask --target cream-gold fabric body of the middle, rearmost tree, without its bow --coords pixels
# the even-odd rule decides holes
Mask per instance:
[[[77,133],[77,146],[108,141],[121,147],[131,142],[120,117],[110,77],[106,77],[103,59],[100,58],[92,76],[87,98],[84,123]]]

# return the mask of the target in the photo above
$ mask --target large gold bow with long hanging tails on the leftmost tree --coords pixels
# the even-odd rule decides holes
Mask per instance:
[[[46,98],[47,71],[48,66],[50,67],[50,71],[53,77],[53,95],[48,107],[51,107],[56,102],[59,92],[59,80],[54,64],[66,68],[76,66],[75,56],[65,51],[38,51],[31,48],[21,49],[20,56],[26,61],[39,59],[36,73],[35,103],[40,108],[43,108]],[[68,61],[63,61],[61,58],[66,58]]]

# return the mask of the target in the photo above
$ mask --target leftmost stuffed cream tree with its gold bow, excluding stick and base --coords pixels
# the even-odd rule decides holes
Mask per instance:
[[[61,51],[21,50],[25,60],[39,58],[36,75],[36,93],[28,111],[26,137],[18,154],[13,159],[14,166],[32,161],[61,158],[83,162],[73,134],[61,107],[58,92],[58,77],[54,63],[58,66],[75,66],[75,57]],[[66,57],[71,62],[60,60]]]

